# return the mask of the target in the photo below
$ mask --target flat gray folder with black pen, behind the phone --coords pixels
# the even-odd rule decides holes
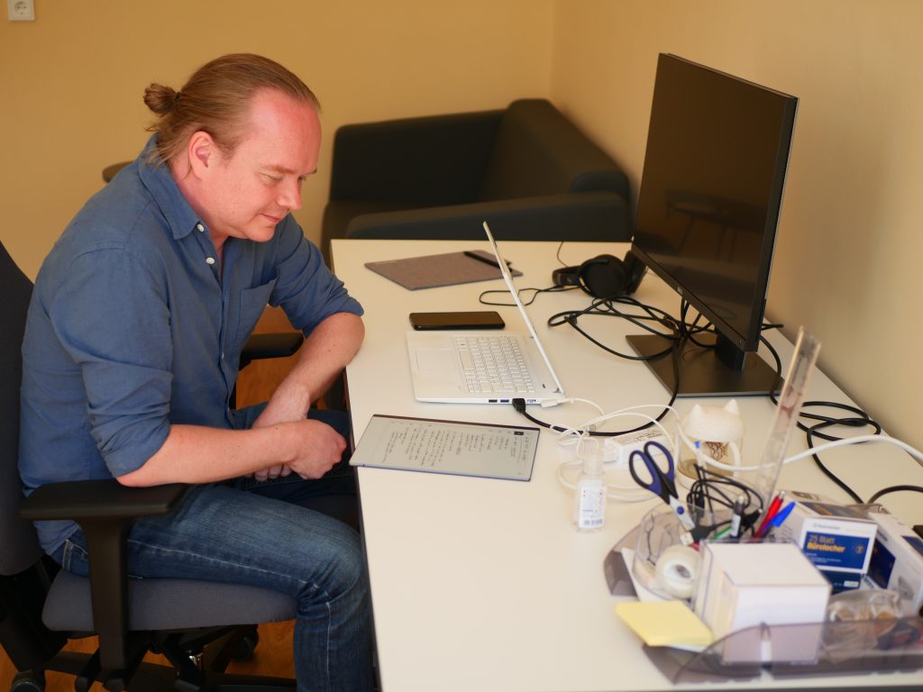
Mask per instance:
[[[482,257],[494,259],[493,253],[485,250],[473,250],[473,252]],[[502,279],[498,268],[468,257],[463,252],[366,262],[366,268],[409,291]],[[511,268],[510,273],[513,276],[522,276],[522,272],[518,269]]]

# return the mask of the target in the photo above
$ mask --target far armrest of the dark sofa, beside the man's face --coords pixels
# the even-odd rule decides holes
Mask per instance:
[[[503,111],[343,125],[330,199],[425,207],[477,198]]]

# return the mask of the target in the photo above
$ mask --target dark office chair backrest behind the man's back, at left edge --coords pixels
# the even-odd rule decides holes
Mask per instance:
[[[19,385],[22,335],[32,282],[0,244],[0,574],[13,575],[42,556],[31,523],[19,519]]]

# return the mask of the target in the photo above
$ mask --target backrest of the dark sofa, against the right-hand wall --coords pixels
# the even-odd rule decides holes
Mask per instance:
[[[497,129],[480,201],[605,190],[627,200],[625,173],[550,101],[509,104]]]

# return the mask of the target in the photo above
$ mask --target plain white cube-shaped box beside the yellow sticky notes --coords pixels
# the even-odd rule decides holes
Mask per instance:
[[[694,610],[715,639],[751,626],[822,623],[831,585],[793,543],[702,543]],[[821,626],[773,638],[773,661],[812,662]],[[759,646],[732,638],[725,662],[762,661]]]

